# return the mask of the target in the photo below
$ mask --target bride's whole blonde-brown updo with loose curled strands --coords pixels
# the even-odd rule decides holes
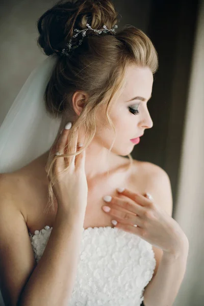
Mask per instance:
[[[38,19],[38,45],[46,55],[59,55],[52,75],[45,90],[45,106],[47,112],[55,117],[61,116],[59,131],[64,128],[67,118],[72,118],[72,127],[65,148],[67,171],[69,160],[74,155],[74,134],[83,125],[86,133],[86,144],[75,153],[79,155],[92,141],[96,133],[96,112],[106,107],[106,120],[115,134],[115,127],[109,116],[110,107],[121,94],[125,86],[125,71],[129,65],[149,67],[154,74],[158,69],[157,51],[148,36],[141,30],[126,25],[116,34],[95,35],[88,31],[82,45],[75,48],[70,57],[60,56],[62,49],[74,35],[75,28],[86,29],[87,22],[93,29],[102,29],[106,25],[112,29],[118,24],[118,14],[111,0],[77,2],[60,1],[46,11]],[[88,93],[88,100],[80,116],[76,116],[72,108],[72,95],[75,91]],[[56,137],[54,145],[59,137]],[[115,138],[109,149],[111,151]],[[132,156],[128,155],[130,166]],[[52,186],[56,183],[54,163],[59,156],[49,154],[46,172],[49,178],[48,206],[54,209],[54,193]]]

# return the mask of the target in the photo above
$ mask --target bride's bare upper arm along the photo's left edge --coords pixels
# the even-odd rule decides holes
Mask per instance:
[[[0,285],[6,305],[18,304],[36,266],[17,182],[11,173],[0,174]]]

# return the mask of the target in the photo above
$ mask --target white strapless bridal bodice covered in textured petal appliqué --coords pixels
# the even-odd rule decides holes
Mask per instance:
[[[69,306],[140,306],[144,287],[156,266],[151,244],[117,227],[88,227],[82,231]],[[51,232],[52,227],[45,226],[34,235],[29,233],[36,262]]]

